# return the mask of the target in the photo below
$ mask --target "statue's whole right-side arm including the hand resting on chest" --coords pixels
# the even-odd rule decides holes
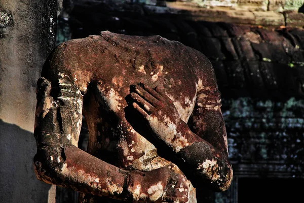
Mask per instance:
[[[188,123],[180,119],[173,101],[161,88],[137,85],[131,96],[135,99],[134,108],[147,121],[153,136],[173,151],[178,166],[195,187],[204,182],[224,191],[231,185],[233,170],[211,64],[209,72],[213,75],[200,81],[204,86],[198,85],[195,109]]]

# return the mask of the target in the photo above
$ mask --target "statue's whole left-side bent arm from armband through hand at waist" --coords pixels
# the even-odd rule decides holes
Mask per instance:
[[[180,187],[188,188],[188,181],[166,167],[129,172],[79,149],[83,95],[67,76],[58,77],[52,82],[40,78],[37,83],[34,169],[39,180],[135,202],[187,201],[188,193]]]

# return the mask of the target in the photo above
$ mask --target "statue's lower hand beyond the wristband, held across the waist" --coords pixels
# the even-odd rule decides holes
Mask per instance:
[[[191,183],[167,167],[149,172],[131,172],[127,190],[135,202],[196,203],[195,189]]]

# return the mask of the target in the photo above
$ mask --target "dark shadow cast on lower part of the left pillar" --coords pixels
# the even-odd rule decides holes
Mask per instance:
[[[0,140],[0,202],[48,202],[51,185],[39,181],[33,170],[33,133],[0,119]]]

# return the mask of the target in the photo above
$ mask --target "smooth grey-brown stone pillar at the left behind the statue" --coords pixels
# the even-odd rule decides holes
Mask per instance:
[[[55,187],[33,171],[33,127],[36,81],[56,45],[56,14],[57,0],[0,0],[0,202],[55,202]]]

